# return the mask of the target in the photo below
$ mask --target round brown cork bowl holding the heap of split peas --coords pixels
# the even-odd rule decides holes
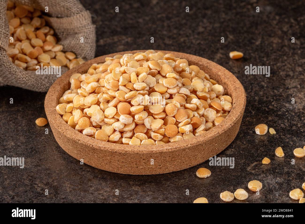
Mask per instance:
[[[223,151],[236,137],[246,106],[246,93],[238,79],[225,68],[207,59],[179,53],[176,57],[187,59],[224,86],[225,94],[233,99],[229,115],[204,136],[174,143],[154,146],[132,146],[103,142],[77,132],[66,124],[56,112],[63,93],[70,88],[69,78],[74,73],[86,73],[93,63],[105,62],[106,57],[138,51],[118,52],[85,62],[63,74],[50,87],[45,97],[45,112],[58,144],[77,160],[93,167],[124,174],[160,174],[186,169],[202,163]],[[144,50],[145,51],[145,50]]]

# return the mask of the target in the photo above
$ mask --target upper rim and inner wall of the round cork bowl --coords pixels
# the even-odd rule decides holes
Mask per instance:
[[[58,99],[62,96],[63,91],[61,90],[63,85],[67,85],[70,79],[70,76],[74,73],[81,73],[82,71],[87,71],[89,67],[94,63],[102,63],[105,62],[106,57],[113,57],[117,54],[128,54],[128,53],[136,53],[136,52],[145,52],[147,50],[134,50],[134,51],[124,51],[124,52],[116,52],[108,55],[103,55],[94,59],[91,59],[87,62],[82,63],[79,66],[74,67],[73,69],[70,69],[63,75],[61,75],[49,88],[48,93],[45,97],[45,113],[47,115],[48,121],[54,128],[59,130],[65,137],[77,141],[79,143],[82,143],[83,145],[90,145],[93,148],[99,149],[99,150],[107,150],[107,151],[113,151],[116,153],[136,153],[136,154],[142,154],[142,153],[158,153],[158,152],[167,152],[167,151],[175,151],[181,148],[188,148],[189,146],[192,146],[194,144],[203,144],[204,142],[216,137],[217,135],[220,135],[221,133],[224,133],[228,131],[238,120],[240,117],[243,116],[243,112],[245,110],[246,106],[246,92],[242,86],[242,84],[239,82],[239,80],[227,69],[224,67],[218,65],[215,62],[212,62],[208,59],[196,56],[196,55],[190,55],[186,53],[181,52],[174,52],[174,51],[166,51],[166,50],[155,50],[156,52],[161,51],[163,53],[173,53],[175,56],[179,56],[180,58],[184,58],[189,60],[200,60],[203,64],[209,65],[211,69],[213,70],[213,73],[218,73],[217,75],[221,74],[221,78],[223,80],[226,80],[222,83],[226,83],[228,86],[232,86],[233,89],[232,94],[234,95],[232,97],[232,109],[228,116],[216,127],[206,132],[206,134],[195,136],[192,139],[186,139],[181,140],[178,142],[172,142],[162,145],[147,145],[147,146],[135,146],[135,145],[125,145],[125,144],[116,144],[111,142],[105,142],[101,140],[96,140],[95,138],[86,136],[77,130],[70,127],[62,117],[56,112],[56,105],[58,104]],[[190,59],[192,58],[192,59]],[[202,69],[202,68],[200,68]],[[209,74],[210,75],[210,74]],[[210,75],[215,76],[215,75]],[[217,79],[216,79],[217,80]],[[229,82],[229,80],[231,80]],[[234,86],[233,86],[234,85]],[[66,91],[66,90],[64,90]],[[57,93],[57,94],[53,94]]]

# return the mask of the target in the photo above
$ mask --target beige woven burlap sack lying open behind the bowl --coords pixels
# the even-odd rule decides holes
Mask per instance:
[[[95,55],[95,26],[91,15],[77,0],[15,0],[14,2],[29,5],[45,11],[48,26],[55,30],[63,51],[74,52],[85,61]],[[0,85],[11,85],[25,89],[45,92],[57,79],[56,75],[37,75],[35,71],[25,71],[9,61],[6,49],[9,46],[9,25],[6,18],[7,0],[0,0]],[[84,37],[84,43],[80,38]],[[63,74],[68,69],[61,68]]]

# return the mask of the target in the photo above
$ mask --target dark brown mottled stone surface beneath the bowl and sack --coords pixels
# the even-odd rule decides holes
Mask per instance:
[[[96,24],[96,56],[136,49],[172,50],[210,59],[237,76],[246,90],[247,106],[237,137],[218,155],[234,157],[235,167],[209,166],[206,161],[178,172],[131,176],[80,165],[60,148],[48,125],[35,125],[35,119],[45,117],[45,93],[0,87],[0,157],[25,158],[23,169],[0,166],[1,202],[192,202],[206,197],[216,203],[222,202],[221,192],[238,188],[249,192],[249,198],[232,203],[296,202],[289,191],[305,182],[305,157],[292,153],[305,145],[302,1],[81,2]],[[114,12],[116,6],[119,13]],[[243,52],[244,58],[231,60],[228,54],[233,50]],[[249,64],[270,66],[271,76],[245,75]],[[254,127],[260,123],[277,134],[256,135]],[[278,146],[285,157],[275,156]],[[264,157],[271,159],[269,165],[261,164]],[[200,167],[209,168],[212,175],[199,179],[195,173]],[[250,180],[263,183],[260,195],[248,190]]]

